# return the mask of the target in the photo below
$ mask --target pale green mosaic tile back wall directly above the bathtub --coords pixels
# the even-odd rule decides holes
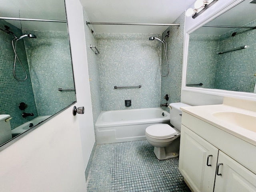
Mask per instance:
[[[161,43],[149,41],[160,34],[98,33],[96,45],[101,110],[124,110],[160,106]],[[141,88],[114,89],[114,86]],[[131,100],[126,107],[124,100]]]

